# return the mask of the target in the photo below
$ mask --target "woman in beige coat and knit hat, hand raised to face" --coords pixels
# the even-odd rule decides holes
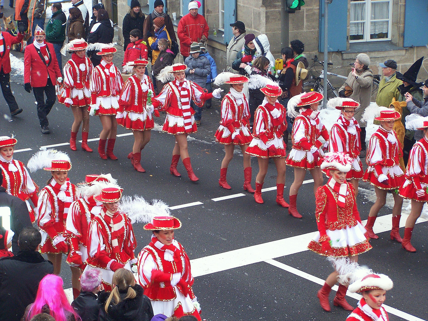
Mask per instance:
[[[357,108],[354,118],[361,127],[361,157],[366,156],[366,126],[365,122],[361,121],[364,110],[369,106],[372,99],[373,73],[369,69],[370,57],[365,53],[359,53],[355,58],[354,66],[348,74],[348,79],[339,89],[340,97],[354,99],[360,103]]]

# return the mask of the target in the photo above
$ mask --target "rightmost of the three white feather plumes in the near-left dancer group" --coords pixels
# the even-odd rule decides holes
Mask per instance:
[[[131,223],[150,223],[153,217],[170,216],[168,205],[158,199],[152,199],[152,204],[143,196],[124,196],[119,202],[120,211],[127,214]]]

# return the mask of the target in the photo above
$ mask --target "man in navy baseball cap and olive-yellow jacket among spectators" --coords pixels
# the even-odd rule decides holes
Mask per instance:
[[[388,59],[381,62],[379,67],[382,68],[383,78],[380,80],[379,89],[377,90],[376,104],[378,106],[389,107],[392,97],[398,100],[400,91],[397,89],[403,82],[397,79],[395,71],[397,71],[397,62]]]

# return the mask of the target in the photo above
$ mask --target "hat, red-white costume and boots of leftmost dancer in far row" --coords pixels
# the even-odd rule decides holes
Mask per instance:
[[[74,39],[67,44],[68,51],[85,50],[88,43],[83,39]],[[71,53],[71,59],[65,64],[64,72],[64,90],[58,101],[66,107],[86,107],[91,104],[91,92],[89,91],[89,80],[92,74],[91,60],[83,56],[80,58],[76,53]],[[82,131],[82,149],[86,152],[92,152],[88,146],[88,132]],[[70,147],[76,150],[77,132],[71,131]]]

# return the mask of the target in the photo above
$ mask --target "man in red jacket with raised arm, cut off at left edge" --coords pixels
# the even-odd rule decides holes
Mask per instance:
[[[4,99],[9,105],[10,115],[16,116],[22,113],[22,108],[18,107],[15,97],[10,90],[10,58],[9,51],[12,45],[18,44],[24,38],[24,35],[19,32],[17,36],[12,36],[10,33],[0,33],[0,85],[3,92]]]

